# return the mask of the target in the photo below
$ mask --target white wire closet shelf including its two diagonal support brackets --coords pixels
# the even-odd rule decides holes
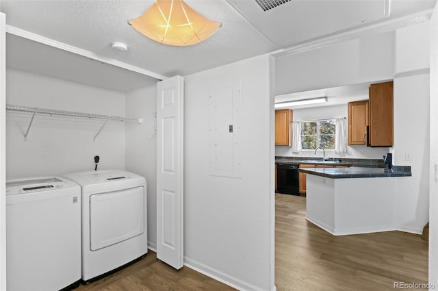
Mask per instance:
[[[94,136],[94,140],[96,140],[97,136],[101,133],[103,127],[107,124],[107,121],[122,121],[122,122],[137,122],[143,123],[142,118],[128,118],[122,116],[112,116],[112,115],[103,115],[103,114],[92,114],[85,112],[74,112],[74,111],[66,111],[66,110],[55,110],[49,108],[41,108],[41,107],[30,107],[23,105],[13,105],[6,104],[6,110],[16,111],[16,112],[29,112],[32,113],[31,120],[29,122],[29,126],[27,127],[27,131],[24,134],[25,140],[27,140],[27,134],[29,134],[30,127],[34,122],[34,117],[36,114],[45,114],[50,116],[68,116],[68,117],[79,117],[79,118],[88,118],[88,119],[103,119],[105,123],[103,123],[101,129],[97,132],[96,136]]]

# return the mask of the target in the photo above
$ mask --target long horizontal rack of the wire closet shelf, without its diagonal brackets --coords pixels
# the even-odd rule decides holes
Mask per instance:
[[[65,111],[65,110],[54,110],[54,109],[47,109],[47,108],[40,108],[40,107],[29,107],[29,106],[23,106],[23,105],[6,104],[6,110],[19,111],[19,112],[31,112],[31,113],[38,113],[38,114],[59,115],[59,116],[96,118],[96,119],[105,119],[105,120],[110,120],[110,121],[136,121],[138,123],[143,123],[142,118],[127,118],[127,117],[102,115],[102,114],[91,114],[91,113],[73,112],[73,111]]]

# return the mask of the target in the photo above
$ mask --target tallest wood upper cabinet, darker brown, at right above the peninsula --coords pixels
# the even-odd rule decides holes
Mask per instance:
[[[394,144],[394,85],[392,81],[370,86],[368,141],[371,147]]]

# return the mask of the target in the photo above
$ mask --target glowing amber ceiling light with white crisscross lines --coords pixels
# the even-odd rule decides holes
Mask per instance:
[[[182,0],[157,0],[142,16],[128,23],[151,40],[177,47],[196,45],[222,26],[204,18]]]

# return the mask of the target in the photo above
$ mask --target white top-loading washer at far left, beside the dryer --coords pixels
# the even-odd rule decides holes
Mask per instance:
[[[79,286],[79,185],[62,177],[6,181],[6,269],[10,291]]]

